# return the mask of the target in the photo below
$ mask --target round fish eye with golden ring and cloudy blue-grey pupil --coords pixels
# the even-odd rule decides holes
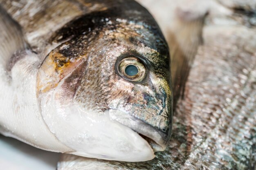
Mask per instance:
[[[118,74],[129,81],[141,82],[146,75],[144,63],[137,57],[125,57],[118,62]]]

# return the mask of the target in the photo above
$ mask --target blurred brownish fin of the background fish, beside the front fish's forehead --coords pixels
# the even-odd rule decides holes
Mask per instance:
[[[175,17],[168,34],[171,53],[171,73],[173,80],[173,107],[183,96],[186,80],[198,47],[203,43],[202,29],[207,11],[193,13],[177,7]]]

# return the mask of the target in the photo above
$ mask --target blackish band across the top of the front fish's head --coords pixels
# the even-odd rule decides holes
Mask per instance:
[[[135,44],[139,42],[144,43],[158,51],[161,55],[169,54],[167,43],[157,22],[155,22],[154,18],[144,7],[132,0],[128,0],[122,8],[112,5],[112,7],[108,7],[104,11],[96,11],[79,16],[56,31],[49,42],[65,42],[80,35],[88,36],[90,33],[101,31],[104,27],[115,31],[122,20],[127,21],[126,24],[136,23],[144,26],[145,29],[150,30],[154,34],[157,41],[157,43],[152,43],[148,35],[141,33],[141,38],[135,39],[130,37],[130,42]]]

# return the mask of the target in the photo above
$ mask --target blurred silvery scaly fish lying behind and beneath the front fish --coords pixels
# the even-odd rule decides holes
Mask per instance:
[[[58,170],[255,170],[256,2],[139,2],[155,16],[172,44],[171,71],[177,72],[172,72],[176,106],[171,141],[164,152],[146,162],[63,154]],[[178,12],[172,7],[175,3]],[[180,12],[182,17],[173,26],[173,16]],[[204,14],[201,32],[197,26]],[[195,56],[186,53],[194,51],[195,44],[199,45]]]

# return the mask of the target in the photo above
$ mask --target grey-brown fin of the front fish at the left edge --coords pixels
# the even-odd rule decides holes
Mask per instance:
[[[13,54],[28,48],[21,26],[0,5],[0,63],[4,69],[13,63]]]

